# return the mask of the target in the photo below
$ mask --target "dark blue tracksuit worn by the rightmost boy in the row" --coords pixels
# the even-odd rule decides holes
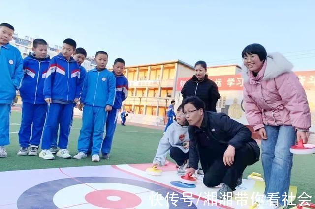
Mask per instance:
[[[116,97],[113,109],[108,113],[106,120],[106,136],[102,144],[102,154],[109,154],[112,147],[114,133],[116,129],[117,117],[119,109],[122,107],[123,101],[128,97],[128,80],[124,75],[116,75]]]

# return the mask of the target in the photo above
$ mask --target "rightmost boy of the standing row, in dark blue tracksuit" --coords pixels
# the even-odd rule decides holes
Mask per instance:
[[[128,97],[128,80],[124,76],[125,61],[122,58],[115,60],[113,65],[113,74],[116,77],[116,98],[113,110],[108,112],[106,121],[106,136],[102,144],[103,159],[109,159],[110,149],[112,147],[114,132],[116,129],[117,117],[119,109],[122,107],[123,101]]]

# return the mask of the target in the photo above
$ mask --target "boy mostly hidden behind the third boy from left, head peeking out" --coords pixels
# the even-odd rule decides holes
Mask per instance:
[[[79,70],[80,70],[80,79],[79,79],[80,93],[82,91],[84,79],[85,79],[85,76],[87,74],[87,70],[81,65],[84,62],[86,57],[87,57],[87,51],[85,49],[83,49],[82,47],[78,47],[78,48],[75,49],[75,52],[74,52],[74,55],[73,55],[73,59],[75,61],[77,61],[78,64],[79,64]],[[76,106],[75,103],[73,105]],[[73,113],[72,113],[72,116],[71,116],[71,124],[70,124],[69,129],[71,129],[72,122],[73,122]],[[58,131],[56,131],[56,133],[54,134],[53,142],[51,144],[51,148],[49,149],[52,154],[55,154],[55,153],[57,153],[59,151],[58,145],[57,145],[57,138],[58,138]]]

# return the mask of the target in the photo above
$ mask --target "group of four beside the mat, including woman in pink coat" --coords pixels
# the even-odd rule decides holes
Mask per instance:
[[[280,53],[267,54],[260,44],[242,51],[246,118],[261,141],[265,191],[256,198],[258,209],[288,204],[293,154],[297,140],[307,143],[311,114],[305,90]],[[176,121],[159,142],[153,166],[165,164],[166,155],[178,165],[178,174],[195,174],[200,162],[207,187],[221,184],[217,199],[231,197],[241,185],[245,168],[259,160],[260,148],[251,131],[224,113],[217,113],[218,87],[210,80],[204,61],[195,64],[195,75],[182,90],[183,102]],[[184,143],[187,142],[187,143]],[[189,144],[189,146],[186,146]],[[273,196],[280,197],[274,201]]]

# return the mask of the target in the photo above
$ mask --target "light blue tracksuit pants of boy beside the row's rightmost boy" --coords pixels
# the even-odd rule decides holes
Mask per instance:
[[[92,155],[99,154],[103,141],[106,116],[105,107],[84,106],[82,128],[78,139],[79,152],[88,153],[92,134]]]

